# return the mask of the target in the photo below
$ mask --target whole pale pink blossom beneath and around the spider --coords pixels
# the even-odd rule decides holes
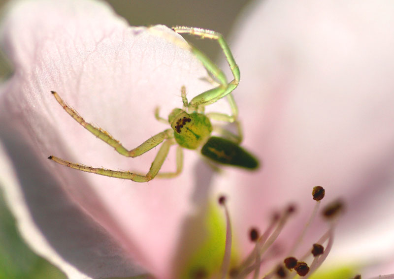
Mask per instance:
[[[305,263],[311,272],[303,260],[289,270],[309,276],[330,252],[337,259],[333,264],[355,272],[355,260],[363,266],[383,250],[361,242],[355,245],[364,253],[351,247],[355,231],[371,232],[368,241],[377,241],[394,229],[387,214],[393,209],[394,135],[387,125],[394,116],[394,57],[392,39],[384,35],[391,17],[373,16],[369,8],[376,15],[382,7],[362,3],[355,11],[335,1],[256,3],[238,24],[231,47],[242,72],[234,94],[245,144],[263,167],[215,174],[188,152],[180,177],[143,185],[46,159],[56,153],[143,172],[154,157],[118,155],[66,115],[50,91],[62,93],[85,119],[133,147],[164,129],[153,110],[159,105],[168,114],[179,106],[182,86],[190,96],[212,87],[201,63],[174,44],[182,38],[169,29],[129,27],[102,2],[11,3],[1,31],[14,73],[0,91],[0,179],[26,241],[69,278],[173,279],[194,271],[195,278],[225,278],[234,267],[238,278],[274,278],[287,272],[276,268],[285,254],[303,259],[313,244],[316,260]],[[365,14],[372,24],[358,26]],[[228,109],[225,101],[212,107]],[[170,155],[163,169],[174,167]],[[315,219],[318,207],[307,194],[320,184],[330,199],[341,196],[346,205],[342,222],[334,218],[328,229]],[[220,193],[226,197],[220,199],[225,217],[215,202]],[[294,200],[301,210],[297,216],[289,206]],[[334,228],[339,248],[351,253],[335,251]],[[382,245],[387,248],[379,264],[389,257],[393,239]],[[254,252],[259,249],[264,253]],[[336,269],[327,270],[335,278]]]

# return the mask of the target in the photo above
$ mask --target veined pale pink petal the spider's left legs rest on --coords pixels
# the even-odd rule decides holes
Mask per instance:
[[[67,115],[50,91],[134,148],[167,128],[153,111],[160,106],[166,117],[181,106],[181,86],[188,96],[212,87],[201,63],[171,42],[181,37],[166,27],[131,28],[106,4],[90,0],[19,1],[3,21],[1,37],[15,68],[0,94],[1,141],[38,230],[52,247],[62,243],[60,256],[90,277],[126,276],[134,269],[127,257],[118,259],[123,270],[100,257],[96,262],[92,254],[85,258],[91,267],[80,260],[84,248],[94,245],[66,239],[80,225],[75,214],[92,223],[77,230],[85,238],[106,237],[105,245],[116,244],[150,273],[170,277],[182,220],[194,208],[191,199],[206,199],[209,176],[194,174],[198,155],[185,152],[179,178],[145,184],[57,165],[48,155],[146,173],[157,149],[134,159],[117,154]],[[164,171],[175,170],[170,154]],[[203,185],[198,197],[197,185]],[[59,213],[58,207],[75,213]]]

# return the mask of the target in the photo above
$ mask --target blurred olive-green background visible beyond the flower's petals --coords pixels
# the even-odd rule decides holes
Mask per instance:
[[[0,9],[9,1],[0,0]],[[226,38],[237,16],[252,0],[107,0],[132,26],[164,24],[212,29]],[[1,13],[2,14],[2,13]],[[187,38],[213,61],[221,58],[217,43]],[[12,73],[0,51],[0,81]],[[15,219],[7,210],[0,187],[0,279],[64,279],[66,276],[45,259],[35,255],[20,238]]]

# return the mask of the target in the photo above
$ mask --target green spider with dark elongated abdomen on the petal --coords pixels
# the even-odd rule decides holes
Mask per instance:
[[[159,116],[159,109],[156,109],[155,111],[156,119],[166,124],[169,123],[171,125],[171,129],[166,129],[163,132],[152,136],[140,146],[132,150],[127,150],[118,140],[114,139],[107,132],[85,122],[85,120],[76,111],[66,105],[58,93],[52,91],[53,96],[56,98],[59,104],[70,116],[72,116],[73,119],[75,119],[75,121],[85,127],[85,129],[90,131],[96,137],[115,148],[115,150],[121,155],[127,157],[137,157],[164,142],[160,147],[155,159],[153,160],[148,173],[146,175],[141,175],[125,171],[93,168],[81,164],[71,163],[52,155],[49,156],[48,159],[73,169],[109,177],[131,179],[135,182],[147,182],[155,177],[172,178],[179,175],[183,168],[182,148],[193,150],[200,149],[202,155],[221,164],[234,165],[246,169],[256,169],[258,167],[258,160],[239,146],[240,142],[242,141],[242,135],[240,124],[237,120],[238,109],[231,92],[238,86],[240,73],[238,65],[235,63],[230,48],[223,39],[222,34],[211,30],[184,26],[173,27],[172,30],[180,34],[186,33],[198,36],[200,38],[209,38],[218,41],[226,56],[227,62],[230,65],[234,79],[228,83],[227,78],[221,69],[219,69],[205,54],[200,52],[197,48],[188,45],[197,59],[204,65],[207,71],[219,82],[220,85],[216,88],[197,95],[190,102],[188,102],[186,98],[186,89],[183,86],[181,89],[183,109],[173,109],[168,116],[168,120],[165,120]],[[227,96],[228,98],[232,115],[222,113],[203,114],[203,110],[206,105],[212,104],[224,96]],[[231,140],[211,136],[213,126],[210,122],[210,119],[235,123],[237,125],[238,135],[235,135],[223,128],[215,127],[218,132],[227,138],[230,138]],[[173,173],[159,173],[164,163],[164,159],[168,154],[170,146],[174,144],[178,144],[176,151],[176,171]]]

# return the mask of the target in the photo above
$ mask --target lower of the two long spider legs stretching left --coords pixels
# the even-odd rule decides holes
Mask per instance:
[[[63,160],[61,158],[55,157],[55,156],[49,156],[48,159],[53,160],[61,165],[67,166],[69,168],[77,169],[77,170],[84,171],[84,172],[90,172],[90,173],[95,173],[95,174],[109,176],[109,177],[115,177],[115,178],[130,179],[135,182],[148,182],[148,181],[152,180],[153,178],[155,178],[155,176],[158,174],[158,172],[160,171],[160,169],[164,163],[165,158],[168,155],[168,151],[169,151],[170,146],[174,143],[175,143],[175,141],[173,139],[164,141],[163,145],[160,147],[160,150],[157,153],[155,159],[153,160],[152,165],[146,175],[125,172],[125,171],[108,170],[108,169],[104,169],[104,168],[93,168],[93,167],[89,167],[89,166],[85,166],[85,165],[81,165],[81,164],[77,164],[77,163],[71,163],[71,162]],[[177,172],[174,173],[173,176],[176,176],[180,173],[180,171],[178,172],[179,164],[180,164],[180,171],[182,170],[182,162],[179,163],[177,161]],[[166,175],[169,175],[169,174],[166,174]]]

